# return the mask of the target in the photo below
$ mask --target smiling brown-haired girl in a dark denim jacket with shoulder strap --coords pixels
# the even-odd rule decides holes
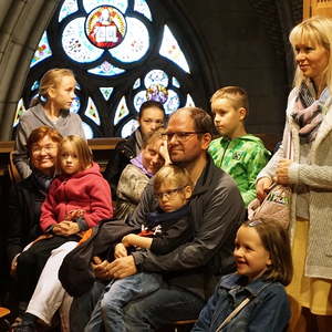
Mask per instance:
[[[293,271],[287,231],[276,222],[247,221],[234,256],[237,272],[221,278],[191,331],[284,331],[290,319],[284,286]]]

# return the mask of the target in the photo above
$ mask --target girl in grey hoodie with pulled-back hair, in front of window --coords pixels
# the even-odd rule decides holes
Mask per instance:
[[[61,135],[84,137],[81,117],[70,112],[75,97],[76,81],[69,69],[52,69],[40,80],[38,96],[31,108],[20,117],[15,137],[13,162],[22,178],[31,174],[27,139],[31,132],[40,126],[49,126]]]

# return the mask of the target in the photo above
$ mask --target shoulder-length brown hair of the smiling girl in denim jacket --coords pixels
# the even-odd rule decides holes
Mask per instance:
[[[288,231],[279,222],[255,219],[242,226],[255,227],[260,240],[270,253],[271,266],[263,274],[267,280],[276,280],[287,286],[293,277],[293,263]]]

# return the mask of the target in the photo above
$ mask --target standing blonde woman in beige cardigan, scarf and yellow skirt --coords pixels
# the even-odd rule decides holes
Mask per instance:
[[[257,194],[262,199],[273,177],[292,186],[294,278],[288,292],[315,315],[319,331],[331,331],[332,19],[303,21],[291,31],[290,42],[295,86],[288,100],[282,144],[258,175]],[[291,160],[284,157],[289,149]]]

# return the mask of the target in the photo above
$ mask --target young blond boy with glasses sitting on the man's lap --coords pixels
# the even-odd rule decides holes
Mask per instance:
[[[181,134],[189,133],[176,133]],[[193,181],[188,172],[175,165],[164,166],[156,173],[153,186],[157,210],[147,215],[139,235],[129,234],[115,246],[115,258],[126,257],[127,250],[133,251],[133,248],[165,255],[193,238],[194,230],[188,220]],[[162,282],[160,274],[146,272],[111,281],[84,331],[125,331],[123,308],[132,300],[156,291]]]

